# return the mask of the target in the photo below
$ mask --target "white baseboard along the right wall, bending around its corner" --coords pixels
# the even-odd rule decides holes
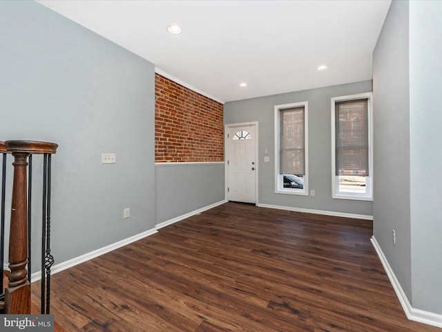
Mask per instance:
[[[396,296],[398,297],[399,302],[401,302],[401,306],[403,308],[403,311],[405,312],[405,315],[407,315],[407,318],[416,322],[421,322],[436,327],[442,327],[442,315],[412,307],[410,301],[408,301],[407,295],[405,295],[405,292],[401,287],[401,284],[399,284],[396,275],[394,275],[393,269],[388,263],[387,258],[385,257],[381,249],[381,246],[379,246],[378,241],[376,241],[376,238],[374,236],[372,237],[371,241],[374,246],[374,250],[376,250],[379,259],[381,259],[385,272],[387,273],[387,276],[392,283],[394,291],[396,292]]]

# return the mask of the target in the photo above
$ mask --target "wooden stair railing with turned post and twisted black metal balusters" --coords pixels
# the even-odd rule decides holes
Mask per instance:
[[[43,225],[44,232],[48,225],[50,215],[48,214],[48,196],[47,190],[50,190],[50,181],[48,185],[47,171],[50,172],[50,155],[55,154],[58,145],[50,142],[35,142],[29,140],[7,140],[5,142],[6,151],[11,153],[14,158],[14,179],[12,184],[12,201],[10,215],[10,236],[9,236],[9,268],[8,287],[5,290],[4,313],[9,314],[29,314],[30,313],[30,278],[28,277],[28,181],[26,169],[28,167],[28,157],[30,160],[32,154],[44,154],[44,206],[43,206]],[[3,154],[4,156],[4,154]],[[49,165],[49,167],[48,167]],[[47,168],[48,167],[48,168]],[[50,174],[49,174],[50,177]],[[4,176],[3,176],[4,178]],[[49,192],[50,194],[50,192]],[[30,199],[30,197],[29,197]],[[49,203],[50,204],[50,203]],[[4,205],[4,204],[3,204]],[[48,226],[49,227],[49,226]],[[30,233],[30,232],[29,232]],[[53,263],[53,257],[50,255],[50,249],[46,248],[46,235],[42,240],[42,275],[50,271],[50,265]],[[47,268],[46,261],[50,264]],[[44,281],[42,280],[42,295],[44,293]],[[48,292],[49,297],[49,292]],[[44,296],[43,296],[44,298]],[[49,313],[48,308],[42,308],[41,313]],[[48,302],[47,302],[48,306]]]

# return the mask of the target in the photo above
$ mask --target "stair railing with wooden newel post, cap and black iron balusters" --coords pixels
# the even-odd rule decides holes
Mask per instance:
[[[44,157],[43,202],[42,202],[42,241],[41,241],[41,313],[49,313],[50,289],[46,287],[50,280],[50,266],[53,257],[50,255],[50,164],[51,155],[55,154],[58,145],[50,142],[28,140],[8,140],[0,142],[0,153],[3,154],[1,176],[1,275],[4,262],[4,229],[6,202],[6,160],[12,155],[14,174],[11,195],[10,234],[9,234],[9,269],[8,286],[2,280],[0,311],[7,314],[30,313],[30,228],[32,202],[32,155]],[[29,168],[28,168],[29,165]]]

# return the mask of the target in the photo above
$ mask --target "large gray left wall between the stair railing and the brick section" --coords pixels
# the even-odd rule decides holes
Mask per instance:
[[[59,144],[56,264],[155,228],[153,64],[33,1],[0,1],[0,41],[0,140]]]

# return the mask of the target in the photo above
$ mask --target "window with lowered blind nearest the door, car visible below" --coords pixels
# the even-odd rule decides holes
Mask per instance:
[[[307,195],[307,102],[275,106],[275,191]]]

